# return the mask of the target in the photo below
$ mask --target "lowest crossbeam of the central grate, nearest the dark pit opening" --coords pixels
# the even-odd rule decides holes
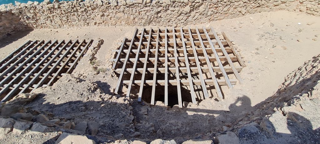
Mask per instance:
[[[193,80],[193,83],[194,83],[194,85],[202,85],[202,84],[201,84],[201,83],[202,83],[201,81],[202,81],[202,80],[200,80],[200,79],[194,79],[194,80]],[[206,79],[206,80],[203,80],[203,81],[204,81],[204,84],[205,84],[205,85],[213,85],[212,79]],[[226,84],[227,84],[224,79],[218,79],[217,81],[218,81],[219,85],[226,85]],[[236,84],[237,81],[238,81],[238,80],[236,80],[236,79],[230,79],[231,84]],[[189,81],[188,81],[188,80],[182,79],[182,80],[180,80],[180,82],[181,82],[181,84],[184,85],[184,86],[188,86],[188,85],[189,85]],[[153,83],[153,80],[146,80],[146,81],[144,82],[144,85],[146,85],[146,86],[151,86],[152,83]],[[124,81],[123,81],[123,84],[129,84],[129,80],[124,80]],[[141,81],[140,81],[140,80],[134,80],[134,81],[132,82],[132,84],[134,84],[134,85],[141,85]],[[165,80],[156,80],[156,85],[157,85],[157,86],[165,86]],[[177,85],[177,81],[176,81],[176,80],[169,80],[169,81],[168,81],[168,85],[170,85],[170,86],[176,86],[176,85]]]

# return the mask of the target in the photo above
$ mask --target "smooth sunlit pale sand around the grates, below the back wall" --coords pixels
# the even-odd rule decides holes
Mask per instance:
[[[317,53],[320,40],[319,17],[295,12],[262,12],[241,18],[219,20],[199,25],[213,26],[219,33],[224,31],[241,50],[247,67],[240,73],[244,84],[224,90],[223,109],[241,112],[272,95],[284,81],[284,77]],[[301,23],[300,25],[298,23]],[[194,26],[191,26],[194,27]],[[140,28],[140,27],[138,27]],[[101,67],[109,67],[112,49],[124,37],[132,36],[134,27],[83,27],[68,29],[36,29],[21,32],[3,39],[0,43],[0,58],[5,57],[26,40],[49,39],[94,39],[104,40],[95,55]],[[111,88],[116,81],[108,80]]]

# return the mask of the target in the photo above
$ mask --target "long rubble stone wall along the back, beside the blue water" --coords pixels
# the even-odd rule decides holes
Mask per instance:
[[[0,28],[12,12],[31,28],[69,28],[79,26],[185,26],[240,17],[250,13],[278,10],[302,11],[320,15],[320,0],[85,0],[28,2],[0,6]],[[11,25],[11,24],[9,24]],[[0,37],[3,34],[1,31]]]

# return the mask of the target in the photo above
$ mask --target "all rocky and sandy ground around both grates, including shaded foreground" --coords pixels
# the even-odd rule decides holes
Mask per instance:
[[[3,103],[0,143],[319,143],[320,19],[310,17],[260,13],[208,24],[235,41],[245,83],[224,89],[225,101],[181,109],[113,94],[117,77],[107,60],[131,27],[38,29],[4,39],[2,57],[27,39],[103,42],[53,86]]]

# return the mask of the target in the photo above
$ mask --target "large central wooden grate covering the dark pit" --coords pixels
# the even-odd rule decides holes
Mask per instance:
[[[126,96],[132,92],[132,85],[140,86],[138,101],[141,101],[144,86],[152,86],[154,105],[156,86],[164,86],[164,103],[168,105],[168,86],[174,85],[181,108],[181,86],[189,88],[193,103],[196,103],[195,86],[201,86],[204,98],[209,98],[208,89],[214,86],[217,99],[222,100],[220,86],[232,88],[236,82],[241,84],[239,72],[245,67],[224,32],[222,37],[213,28],[136,28],[132,39],[124,38],[112,59],[115,61],[112,69],[119,74],[115,93],[122,84],[128,86]]]

